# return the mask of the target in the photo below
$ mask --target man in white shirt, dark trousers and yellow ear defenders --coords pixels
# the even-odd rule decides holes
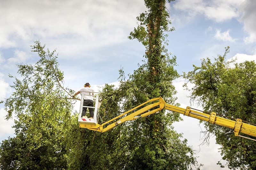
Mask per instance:
[[[84,94],[84,106],[89,106],[90,118],[93,119],[93,90],[90,88],[91,85],[89,83],[84,84],[84,88],[81,88],[74,96],[79,94],[80,92]],[[82,99],[81,99],[82,100]],[[81,117],[85,116],[87,107],[83,107]]]

